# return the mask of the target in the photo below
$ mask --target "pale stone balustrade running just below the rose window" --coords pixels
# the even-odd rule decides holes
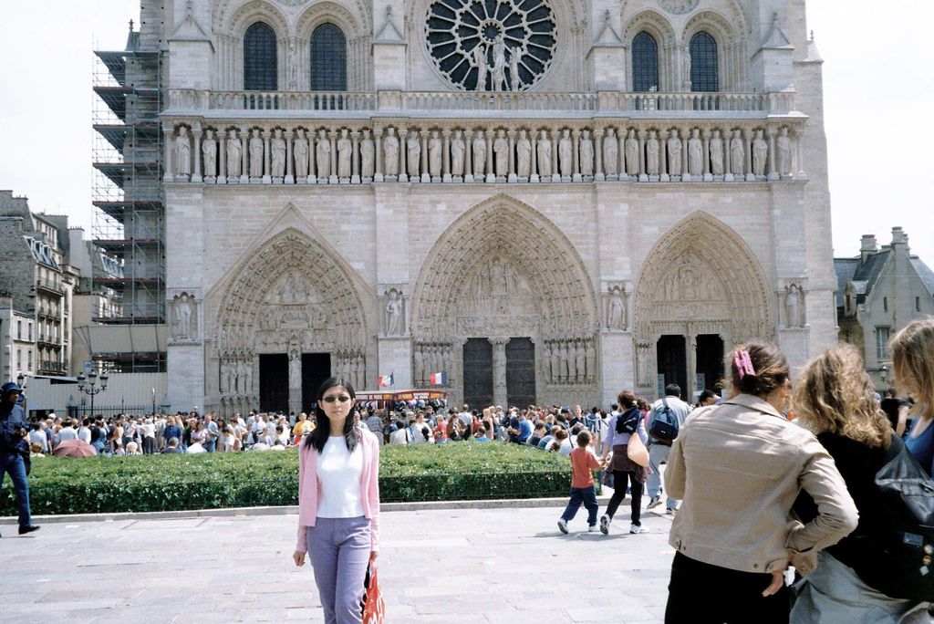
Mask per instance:
[[[793,109],[793,92],[216,92],[172,89],[164,116],[201,111],[368,112],[417,117],[436,116],[446,111],[540,111],[592,116],[664,117],[668,113],[677,113],[677,116],[687,113],[701,118],[724,114],[730,118],[738,114],[762,118]]]

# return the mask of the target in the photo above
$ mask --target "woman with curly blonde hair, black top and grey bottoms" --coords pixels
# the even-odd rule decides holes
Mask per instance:
[[[884,532],[884,502],[875,475],[901,450],[902,442],[873,396],[863,360],[850,345],[828,349],[804,367],[794,393],[798,422],[817,436],[837,464],[856,503],[856,530],[817,553],[814,571],[800,586],[791,612],[794,624],[805,622],[899,622],[917,603],[886,596],[862,580],[878,570],[873,535]],[[817,514],[817,505],[801,493],[793,507],[802,522]]]

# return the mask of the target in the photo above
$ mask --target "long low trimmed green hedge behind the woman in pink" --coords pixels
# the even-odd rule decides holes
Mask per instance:
[[[571,463],[557,453],[495,442],[383,447],[384,503],[566,496]],[[298,503],[298,457],[287,451],[37,458],[33,513],[215,509]],[[0,516],[16,515],[7,480]]]

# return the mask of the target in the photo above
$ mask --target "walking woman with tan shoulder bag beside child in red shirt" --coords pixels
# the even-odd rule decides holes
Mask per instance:
[[[636,396],[632,390],[620,392],[616,401],[619,402],[623,412],[610,418],[601,456],[601,462],[605,462],[607,454],[613,448],[613,460],[609,466],[609,469],[613,471],[613,496],[610,498],[610,503],[606,505],[606,513],[600,518],[600,531],[604,535],[610,532],[610,522],[616,515],[619,503],[626,498],[626,486],[629,483],[632,495],[630,533],[644,533],[648,530],[643,528],[640,514],[642,513],[643,486],[647,475],[642,466],[630,460],[627,446],[633,432],[638,433],[643,443],[648,442],[648,434],[645,433],[645,418],[636,406]]]

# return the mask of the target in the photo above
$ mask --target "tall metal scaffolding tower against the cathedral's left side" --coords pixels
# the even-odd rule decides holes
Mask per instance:
[[[97,50],[94,57],[92,241],[115,266],[95,270],[92,288],[115,291],[119,302],[94,320],[164,324],[163,52],[142,48],[131,22],[126,50]],[[117,370],[165,370],[164,351],[95,357]]]

